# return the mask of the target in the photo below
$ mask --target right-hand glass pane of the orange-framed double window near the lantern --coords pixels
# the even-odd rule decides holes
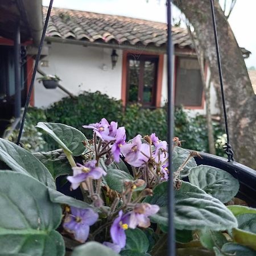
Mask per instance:
[[[155,63],[145,61],[144,64],[144,86],[143,86],[143,102],[152,102],[153,88],[155,84]]]

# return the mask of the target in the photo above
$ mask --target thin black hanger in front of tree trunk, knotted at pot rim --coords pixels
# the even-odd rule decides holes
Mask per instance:
[[[234,152],[229,143],[228,117],[226,114],[226,102],[225,102],[225,93],[224,93],[222,68],[221,68],[221,60],[220,60],[220,48],[218,47],[218,34],[217,34],[216,18],[215,18],[215,13],[214,13],[214,2],[213,1],[214,0],[210,0],[210,10],[212,13],[212,23],[213,23],[214,39],[215,39],[217,61],[218,61],[218,74],[220,76],[221,98],[222,98],[222,105],[223,105],[224,119],[225,119],[225,128],[226,128],[226,143],[225,143],[224,149],[225,149],[226,154],[228,155],[228,162],[231,162],[231,161],[234,161],[234,156],[233,156]]]

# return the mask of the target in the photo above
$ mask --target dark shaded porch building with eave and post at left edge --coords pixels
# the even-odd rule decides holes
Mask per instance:
[[[0,135],[25,104],[42,21],[40,1],[0,1]]]

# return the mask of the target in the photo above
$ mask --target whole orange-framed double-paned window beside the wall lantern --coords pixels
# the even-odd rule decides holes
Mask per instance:
[[[160,106],[163,56],[123,54],[122,100],[146,108]]]

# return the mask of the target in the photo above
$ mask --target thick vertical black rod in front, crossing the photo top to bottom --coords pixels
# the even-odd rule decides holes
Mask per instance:
[[[168,180],[168,256],[175,256],[175,228],[174,228],[174,177],[172,174],[172,150],[174,146],[174,86],[173,86],[173,57],[172,44],[172,0],[167,0],[167,85],[168,85],[168,153],[169,153],[169,180]]]

